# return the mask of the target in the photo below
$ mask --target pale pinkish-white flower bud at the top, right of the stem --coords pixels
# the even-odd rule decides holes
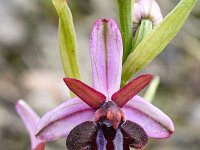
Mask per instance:
[[[155,0],[135,0],[132,13],[134,25],[139,24],[142,19],[148,19],[155,26],[163,19],[160,7]]]

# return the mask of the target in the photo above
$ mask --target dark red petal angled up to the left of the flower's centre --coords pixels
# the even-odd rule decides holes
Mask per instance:
[[[105,95],[79,80],[72,78],[64,78],[63,80],[72,92],[93,109],[98,109],[106,100]]]

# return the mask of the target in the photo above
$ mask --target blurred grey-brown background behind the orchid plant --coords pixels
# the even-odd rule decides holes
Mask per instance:
[[[157,0],[166,16],[179,0]],[[114,0],[70,2],[84,82],[91,84],[89,35],[100,17],[117,19]],[[140,73],[161,77],[153,104],[168,114],[176,132],[150,140],[147,150],[200,149],[200,2],[166,49]],[[30,140],[14,110],[18,99],[43,115],[69,98],[58,51],[58,17],[51,0],[0,1],[0,149],[28,150]],[[163,33],[164,34],[164,33]],[[65,139],[47,150],[65,149]]]

